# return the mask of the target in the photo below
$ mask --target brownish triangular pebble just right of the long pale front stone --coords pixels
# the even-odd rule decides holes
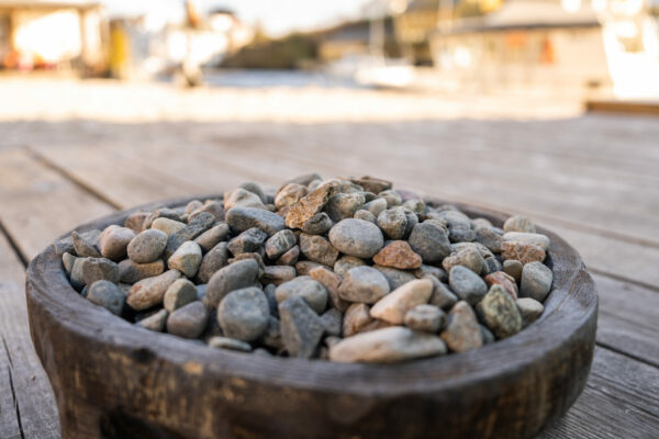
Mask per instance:
[[[456,303],[448,314],[448,325],[440,337],[451,351],[463,352],[483,345],[480,325],[467,302]]]

